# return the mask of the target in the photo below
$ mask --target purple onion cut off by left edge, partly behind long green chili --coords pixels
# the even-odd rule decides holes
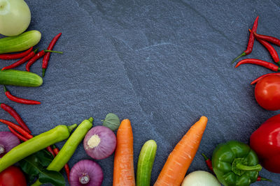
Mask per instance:
[[[0,132],[0,157],[6,155],[15,146],[20,144],[20,139],[12,132]]]

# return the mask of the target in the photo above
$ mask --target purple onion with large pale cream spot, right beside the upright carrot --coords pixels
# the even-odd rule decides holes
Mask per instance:
[[[83,139],[83,148],[90,157],[102,160],[115,151],[117,145],[116,135],[109,127],[93,127]]]

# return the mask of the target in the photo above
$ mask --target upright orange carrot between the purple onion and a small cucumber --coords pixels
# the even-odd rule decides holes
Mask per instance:
[[[133,134],[130,121],[120,123],[113,167],[113,186],[135,186],[133,164]]]

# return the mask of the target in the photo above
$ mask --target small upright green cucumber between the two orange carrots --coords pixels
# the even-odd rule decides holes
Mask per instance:
[[[153,139],[142,146],[137,164],[137,186],[150,186],[157,143]]]

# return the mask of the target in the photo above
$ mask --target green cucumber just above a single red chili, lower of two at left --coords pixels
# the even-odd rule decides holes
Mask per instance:
[[[43,84],[43,79],[33,72],[0,70],[0,84],[14,86],[40,86]]]

